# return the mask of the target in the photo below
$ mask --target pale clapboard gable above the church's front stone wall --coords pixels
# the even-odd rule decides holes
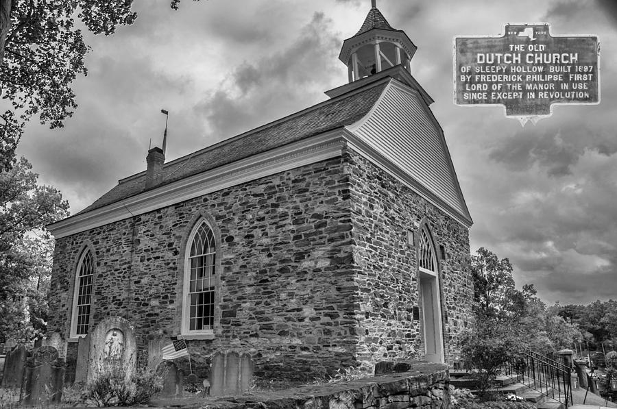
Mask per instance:
[[[346,128],[417,181],[429,201],[472,224],[444,132],[418,90],[391,79],[372,110]]]

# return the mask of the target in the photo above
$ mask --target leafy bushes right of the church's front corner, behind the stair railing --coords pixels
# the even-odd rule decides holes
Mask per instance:
[[[533,285],[514,286],[513,268],[481,248],[472,256],[476,325],[461,338],[461,359],[485,393],[506,362],[524,349],[546,354],[570,347],[581,338],[576,327],[548,310]]]

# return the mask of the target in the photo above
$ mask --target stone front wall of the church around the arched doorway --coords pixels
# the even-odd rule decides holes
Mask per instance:
[[[457,360],[459,334],[471,319],[468,229],[353,150],[348,152],[354,262],[359,286],[361,323],[358,359],[364,366],[380,360],[424,355],[418,307],[416,248],[407,244],[407,231],[419,237],[426,218],[435,240],[446,248],[440,290],[446,362]],[[420,317],[422,310],[420,306]]]

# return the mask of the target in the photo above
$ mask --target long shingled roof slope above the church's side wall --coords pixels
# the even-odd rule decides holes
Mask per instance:
[[[262,127],[223,140],[165,164],[162,183],[202,173],[310,136],[351,125],[374,106],[387,83],[377,83],[361,92],[341,95],[306,108]],[[89,212],[149,190],[145,188],[145,171],[121,179],[117,186],[77,214]]]

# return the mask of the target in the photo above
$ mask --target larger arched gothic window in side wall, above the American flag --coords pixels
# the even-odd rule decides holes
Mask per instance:
[[[184,259],[182,332],[211,333],[214,326],[217,245],[206,221],[195,225]]]

